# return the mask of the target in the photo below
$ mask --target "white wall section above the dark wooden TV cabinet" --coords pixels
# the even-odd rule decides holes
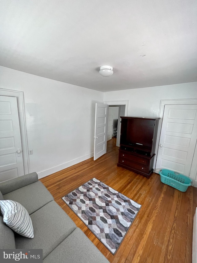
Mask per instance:
[[[104,101],[129,100],[128,116],[158,117],[161,100],[197,98],[197,82],[104,93]]]

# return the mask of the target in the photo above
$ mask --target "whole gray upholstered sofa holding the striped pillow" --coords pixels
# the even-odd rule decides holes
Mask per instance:
[[[0,183],[0,200],[13,200],[26,208],[34,238],[20,236],[0,215],[0,249],[43,249],[43,262],[109,262],[54,201],[34,172]]]

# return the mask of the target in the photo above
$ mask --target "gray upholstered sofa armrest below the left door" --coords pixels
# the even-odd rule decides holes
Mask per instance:
[[[0,183],[0,191],[2,192],[2,195],[5,195],[7,193],[10,193],[28,184],[35,183],[37,181],[38,181],[38,175],[36,172],[33,172]]]

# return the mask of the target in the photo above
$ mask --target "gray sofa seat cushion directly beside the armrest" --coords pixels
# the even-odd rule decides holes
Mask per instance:
[[[40,181],[7,193],[3,197],[22,204],[29,214],[54,200],[53,196]]]

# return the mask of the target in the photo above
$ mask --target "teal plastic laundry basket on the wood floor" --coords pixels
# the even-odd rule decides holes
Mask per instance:
[[[171,170],[162,169],[159,174],[162,183],[170,185],[181,192],[187,191],[188,186],[191,186],[192,183],[189,177]]]

